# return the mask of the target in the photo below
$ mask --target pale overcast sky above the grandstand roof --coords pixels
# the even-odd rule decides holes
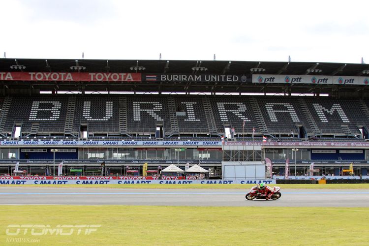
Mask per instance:
[[[369,63],[368,0],[0,0],[6,58]]]

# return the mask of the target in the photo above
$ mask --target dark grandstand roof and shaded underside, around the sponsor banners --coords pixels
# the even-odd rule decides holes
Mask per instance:
[[[14,69],[21,65],[20,69]],[[13,66],[13,67],[12,67]],[[23,68],[25,66],[25,68]],[[166,61],[166,60],[74,60],[74,59],[0,59],[0,72],[76,72],[71,67],[84,67],[82,72],[109,72],[143,74],[223,74],[245,75],[250,82],[252,74],[316,75],[316,76],[366,76],[369,64],[329,62],[243,62],[243,61]],[[12,67],[12,68],[11,68]],[[134,68],[137,67],[137,70]],[[144,70],[139,70],[139,69]],[[199,68],[196,70],[196,68]],[[203,68],[201,70],[201,68]],[[206,68],[206,69],[205,69]],[[253,68],[260,68],[252,71]],[[261,70],[261,71],[260,71]],[[78,71],[77,71],[78,72]],[[264,93],[341,93],[358,96],[366,86],[350,85],[297,85],[215,83],[215,82],[25,82],[2,81],[6,93],[37,93],[39,91],[130,91],[130,92],[264,92]],[[366,92],[368,93],[368,92]]]

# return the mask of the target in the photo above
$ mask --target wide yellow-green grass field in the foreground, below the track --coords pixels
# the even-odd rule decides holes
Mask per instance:
[[[40,240],[34,245],[368,245],[368,212],[368,208],[1,206],[0,245],[11,238]],[[9,224],[101,227],[91,235],[7,236]]]

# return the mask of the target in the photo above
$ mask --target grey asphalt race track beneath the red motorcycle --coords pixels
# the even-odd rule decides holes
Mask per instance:
[[[119,189],[0,186],[0,205],[166,205],[369,207],[369,190],[284,189],[276,201],[245,199],[240,189]]]

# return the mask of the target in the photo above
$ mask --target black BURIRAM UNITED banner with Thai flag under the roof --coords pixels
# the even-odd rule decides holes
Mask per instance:
[[[148,82],[247,82],[245,75],[225,74],[143,74]]]

